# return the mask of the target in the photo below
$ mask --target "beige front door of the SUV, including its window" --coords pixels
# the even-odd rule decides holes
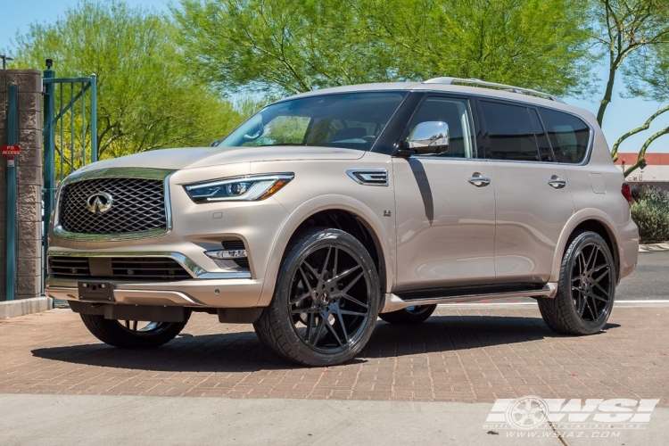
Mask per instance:
[[[448,150],[392,159],[395,293],[483,285],[495,277],[492,171],[488,161],[477,157],[470,104],[463,98],[427,96],[407,134],[428,121],[448,124]]]

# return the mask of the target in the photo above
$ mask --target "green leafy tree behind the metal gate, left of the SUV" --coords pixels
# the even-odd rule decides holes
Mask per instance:
[[[156,13],[117,0],[84,0],[51,24],[32,24],[16,37],[13,54],[26,68],[52,58],[58,77],[97,74],[101,158],[208,145],[240,117],[189,77],[172,33],[170,22]],[[87,145],[78,141],[79,155]]]

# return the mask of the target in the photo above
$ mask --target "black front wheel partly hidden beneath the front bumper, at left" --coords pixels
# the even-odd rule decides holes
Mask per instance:
[[[184,329],[190,318],[186,311],[183,322],[141,322],[105,319],[103,315],[81,314],[81,320],[96,338],[120,349],[153,349],[169,343]],[[139,329],[137,329],[139,328]]]

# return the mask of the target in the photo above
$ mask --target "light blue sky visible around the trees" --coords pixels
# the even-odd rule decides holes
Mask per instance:
[[[127,3],[134,6],[153,8],[159,12],[167,12],[169,5],[169,2],[165,0],[127,0]],[[0,0],[0,48],[11,47],[10,39],[17,32],[26,32],[30,23],[53,21],[55,17],[62,15],[62,12],[67,7],[76,4],[77,0]],[[12,65],[9,64],[8,68],[12,68]],[[604,78],[606,72],[607,68],[604,66],[593,67],[591,73],[588,73],[588,75]],[[443,75],[448,76],[448,73],[443,73]],[[570,97],[564,99],[566,103],[582,107],[592,113],[597,113],[599,107],[597,99],[601,97],[604,87],[604,81],[602,80],[600,82],[599,95],[593,95],[591,99]],[[643,101],[639,98],[622,98],[620,97],[621,92],[624,92],[624,85],[620,77],[618,77],[615,83],[613,101],[607,108],[604,125],[602,126],[609,146],[614,145],[618,137],[624,135],[632,128],[643,125],[650,115],[662,107],[660,103]],[[667,126],[669,126],[669,112],[665,113],[665,116],[661,116],[655,120],[653,125],[645,132],[625,140],[620,146],[619,152],[639,152],[640,146],[643,145],[648,136],[653,135],[660,128]],[[669,152],[669,135],[658,138],[648,148],[648,153],[660,152]]]

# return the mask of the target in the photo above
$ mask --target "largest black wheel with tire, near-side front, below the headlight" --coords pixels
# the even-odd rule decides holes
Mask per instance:
[[[333,366],[368,343],[380,299],[376,266],[365,247],[341,230],[311,229],[286,249],[272,301],[253,327],[281,359]]]

